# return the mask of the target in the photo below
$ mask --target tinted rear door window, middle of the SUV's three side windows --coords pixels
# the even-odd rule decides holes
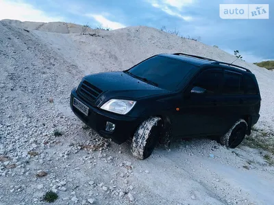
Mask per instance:
[[[243,94],[243,88],[241,86],[242,74],[236,72],[227,72],[224,73],[224,82],[223,82],[223,94]]]

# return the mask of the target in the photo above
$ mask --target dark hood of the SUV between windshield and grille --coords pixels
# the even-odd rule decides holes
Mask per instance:
[[[84,77],[83,81],[84,80],[98,87],[105,95],[111,94],[112,97],[142,98],[171,93],[169,90],[164,90],[139,79],[135,79],[125,72],[90,74]]]

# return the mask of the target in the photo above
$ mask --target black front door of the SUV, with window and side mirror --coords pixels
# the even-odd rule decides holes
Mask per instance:
[[[182,96],[179,111],[175,113],[177,119],[173,125],[175,135],[188,137],[219,133],[221,124],[219,98],[222,81],[222,70],[210,68],[201,72],[190,84],[189,89]]]

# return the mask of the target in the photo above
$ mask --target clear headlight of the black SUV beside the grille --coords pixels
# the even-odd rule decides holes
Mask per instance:
[[[132,109],[132,107],[134,107],[135,103],[136,101],[132,100],[112,99],[105,102],[101,106],[101,109],[125,115]]]

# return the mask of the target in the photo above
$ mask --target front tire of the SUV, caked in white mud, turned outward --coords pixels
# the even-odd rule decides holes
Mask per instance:
[[[132,139],[131,151],[137,159],[147,159],[160,139],[162,119],[149,118],[138,126]]]

